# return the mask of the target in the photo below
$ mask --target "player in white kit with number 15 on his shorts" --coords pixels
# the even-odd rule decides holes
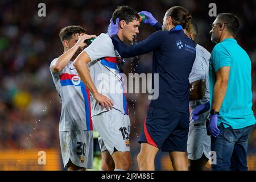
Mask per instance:
[[[119,6],[112,18],[114,21],[119,18],[119,38],[122,41],[133,41],[134,36],[139,32],[137,11],[128,6]],[[86,65],[89,62],[90,74]],[[100,92],[113,101],[114,105],[110,110],[109,108],[101,110],[102,106],[93,98],[91,104],[93,125],[100,135],[102,158],[104,155],[111,155],[116,171],[129,170],[131,167],[130,118],[123,90],[122,65],[123,60],[115,51],[109,34],[98,36],[80,53],[74,63],[93,97],[94,92]],[[102,169],[105,170],[104,166]]]

